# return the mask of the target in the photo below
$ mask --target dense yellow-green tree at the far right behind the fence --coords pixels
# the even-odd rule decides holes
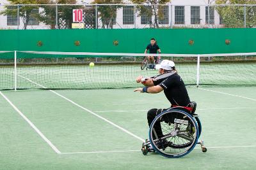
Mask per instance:
[[[256,4],[255,0],[216,0],[216,4]],[[244,27],[244,6],[216,6],[225,27]],[[256,6],[246,6],[246,27],[256,26]]]

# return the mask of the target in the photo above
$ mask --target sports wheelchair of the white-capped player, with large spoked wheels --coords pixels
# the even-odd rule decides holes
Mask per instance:
[[[195,102],[191,102],[187,107],[172,106],[163,112],[160,110],[150,125],[149,141],[146,139],[142,144],[143,155],[157,152],[168,158],[184,157],[195,148],[196,144],[201,145],[202,152],[207,152],[204,141],[198,141],[202,125],[195,110]],[[159,122],[163,136],[157,136],[154,129]]]

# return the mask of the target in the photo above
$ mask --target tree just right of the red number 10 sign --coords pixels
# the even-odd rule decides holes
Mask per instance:
[[[122,4],[122,0],[94,0],[93,4]],[[116,11],[122,6],[118,5],[106,5],[106,6],[97,6],[99,11],[99,18],[102,22],[102,28],[111,28],[113,29],[113,24],[116,21]]]

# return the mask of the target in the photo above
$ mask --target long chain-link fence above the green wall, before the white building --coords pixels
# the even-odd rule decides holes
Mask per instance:
[[[256,6],[0,4],[0,29],[72,29],[74,22],[83,29],[256,27]]]

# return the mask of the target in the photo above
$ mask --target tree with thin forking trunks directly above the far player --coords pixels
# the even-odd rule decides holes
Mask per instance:
[[[167,4],[171,0],[131,0],[134,4],[145,4],[145,6],[137,6],[137,9],[140,11],[140,15],[146,15],[151,18],[154,16],[154,21],[148,23],[150,27],[159,27],[159,20],[164,18],[164,8],[161,5],[156,4]]]

